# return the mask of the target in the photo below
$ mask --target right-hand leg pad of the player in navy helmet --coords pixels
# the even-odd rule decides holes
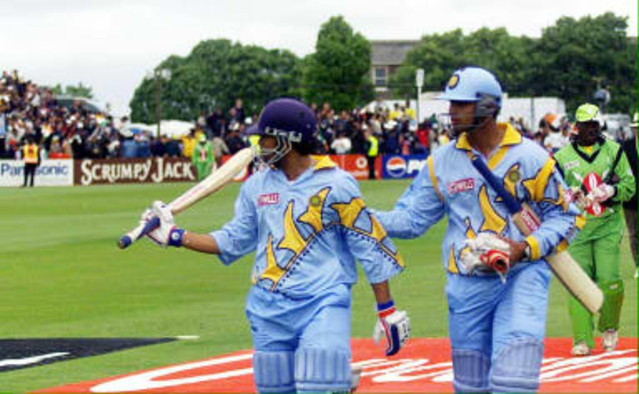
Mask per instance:
[[[295,352],[295,383],[298,393],[349,392],[349,354],[337,349],[306,347]]]

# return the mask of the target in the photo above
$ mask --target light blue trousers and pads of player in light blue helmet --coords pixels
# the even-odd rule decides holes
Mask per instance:
[[[493,276],[447,275],[450,344],[453,363],[459,360],[459,369],[454,365],[459,385],[470,379],[470,386],[478,389],[495,388],[497,377],[532,388],[539,377],[535,363],[541,362],[546,333],[550,268],[543,261],[514,268],[505,284]]]

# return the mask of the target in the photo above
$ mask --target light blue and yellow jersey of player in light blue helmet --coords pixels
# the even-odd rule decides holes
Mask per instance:
[[[583,218],[564,199],[566,183],[555,170],[555,161],[511,125],[499,123],[498,127],[505,128],[504,138],[489,160],[470,146],[465,133],[429,156],[394,210],[376,212],[389,236],[417,238],[447,215],[442,261],[448,271],[461,275],[468,274],[458,264],[460,255],[468,250],[465,240],[479,232],[527,241],[534,261],[566,248]],[[469,154],[482,156],[503,179],[505,188],[532,207],[542,220],[537,231],[527,238],[518,231],[505,204],[473,167]]]

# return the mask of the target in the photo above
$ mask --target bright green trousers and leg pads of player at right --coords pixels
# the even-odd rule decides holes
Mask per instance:
[[[599,310],[597,328],[617,330],[624,297],[624,287],[619,274],[619,247],[623,234],[622,221],[606,220],[587,223],[568,252],[583,271],[599,286],[604,294],[604,303]],[[585,341],[594,347],[594,317],[574,298],[568,301],[568,310],[573,322],[573,344]]]

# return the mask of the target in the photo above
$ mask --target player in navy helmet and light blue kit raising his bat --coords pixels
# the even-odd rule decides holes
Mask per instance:
[[[388,280],[404,263],[367,209],[357,181],[328,156],[312,156],[316,120],[289,98],[266,105],[255,132],[261,170],[242,185],[235,217],[219,231],[178,229],[161,202],[150,236],[168,246],[219,255],[224,264],[255,252],[246,302],[253,370],[261,393],[351,390],[351,287],[358,260],[378,303],[377,340],[392,356],[410,334]]]

